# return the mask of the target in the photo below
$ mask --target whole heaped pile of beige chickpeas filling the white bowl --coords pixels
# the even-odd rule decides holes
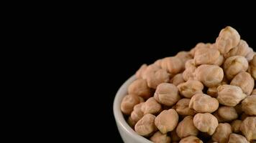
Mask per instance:
[[[256,142],[256,55],[231,26],[214,44],[143,64],[121,110],[152,142]]]

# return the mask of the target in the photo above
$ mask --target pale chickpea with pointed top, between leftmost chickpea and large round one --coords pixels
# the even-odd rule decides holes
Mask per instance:
[[[157,114],[161,111],[161,104],[157,103],[153,97],[147,99],[147,101],[142,104],[141,110],[144,114]]]

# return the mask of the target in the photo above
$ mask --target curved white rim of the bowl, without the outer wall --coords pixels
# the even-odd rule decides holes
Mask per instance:
[[[116,92],[116,96],[114,97],[114,104],[113,104],[113,112],[114,112],[114,118],[116,120],[116,124],[119,125],[119,127],[122,127],[124,132],[129,134],[129,136],[134,137],[134,139],[137,139],[140,142],[151,142],[149,139],[146,139],[145,137],[140,136],[137,134],[131,127],[129,127],[129,124],[124,119],[124,116],[121,112],[121,102],[125,94],[127,94],[127,87],[129,84],[131,84],[136,79],[135,75],[132,77],[129,77],[124,84],[118,89]],[[120,132],[120,131],[119,131]]]

